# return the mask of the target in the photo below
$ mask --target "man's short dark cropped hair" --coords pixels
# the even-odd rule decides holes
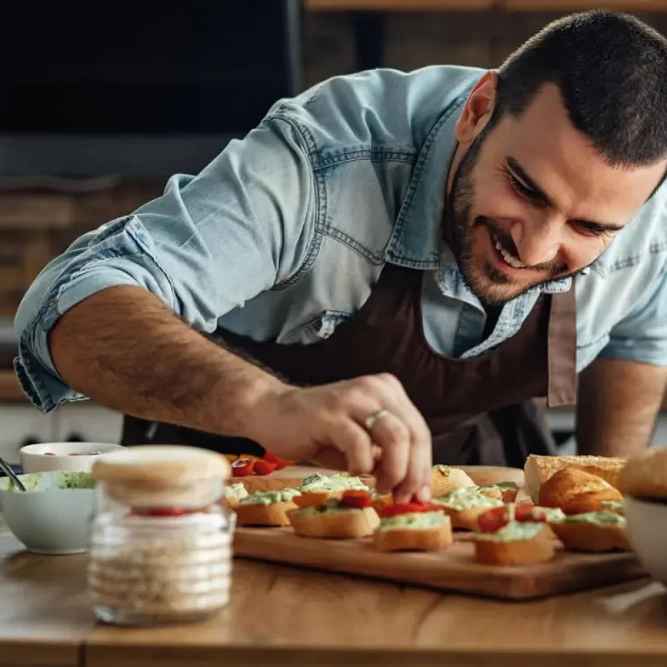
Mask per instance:
[[[638,18],[593,10],[544,27],[498,68],[490,125],[520,116],[547,83],[609,164],[667,156],[667,39]]]

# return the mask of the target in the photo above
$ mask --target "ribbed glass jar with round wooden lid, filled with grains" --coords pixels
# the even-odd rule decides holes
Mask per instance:
[[[132,447],[95,463],[88,594],[98,619],[183,623],[227,605],[229,473],[224,457],[192,447]]]

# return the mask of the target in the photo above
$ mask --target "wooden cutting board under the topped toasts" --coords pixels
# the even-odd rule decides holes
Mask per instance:
[[[647,576],[631,553],[579,554],[560,550],[536,565],[493,567],[475,562],[470,535],[456,534],[439,553],[381,553],[370,539],[300,537],[291,528],[237,528],[235,557],[357,574],[372,579],[472,593],[505,600],[530,600],[607,586]]]

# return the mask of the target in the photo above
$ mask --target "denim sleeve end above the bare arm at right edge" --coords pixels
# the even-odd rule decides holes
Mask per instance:
[[[667,366],[667,270],[614,326],[600,357]]]

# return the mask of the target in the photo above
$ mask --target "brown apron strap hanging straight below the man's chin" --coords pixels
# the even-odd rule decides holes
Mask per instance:
[[[550,295],[547,405],[576,405],[576,291]]]

